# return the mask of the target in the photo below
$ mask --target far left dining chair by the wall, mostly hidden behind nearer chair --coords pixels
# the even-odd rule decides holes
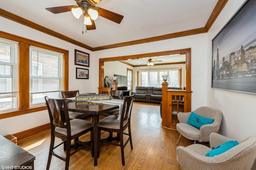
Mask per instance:
[[[62,91],[61,92],[62,98],[74,98],[77,95],[79,95],[79,90],[74,90],[74,91]],[[87,114],[87,113],[82,113],[82,112],[69,112],[69,118],[70,119],[85,119],[87,117],[92,117],[92,115]]]

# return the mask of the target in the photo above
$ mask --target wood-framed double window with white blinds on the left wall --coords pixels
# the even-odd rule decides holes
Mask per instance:
[[[46,110],[44,96],[68,91],[68,50],[0,36],[0,119]]]

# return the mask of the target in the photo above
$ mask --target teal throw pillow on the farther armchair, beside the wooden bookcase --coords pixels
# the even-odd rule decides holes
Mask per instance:
[[[196,127],[197,129],[200,129],[202,125],[211,124],[213,123],[214,119],[202,117],[200,115],[197,115],[193,111],[191,112],[187,124]]]

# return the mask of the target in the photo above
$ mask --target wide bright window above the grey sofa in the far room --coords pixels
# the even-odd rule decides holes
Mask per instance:
[[[171,68],[164,70],[140,70],[140,86],[162,87],[163,75],[168,75],[169,87],[180,87],[181,68]]]

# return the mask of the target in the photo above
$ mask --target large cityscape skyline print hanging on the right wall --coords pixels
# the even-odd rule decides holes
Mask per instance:
[[[212,39],[212,88],[256,95],[256,0]]]

